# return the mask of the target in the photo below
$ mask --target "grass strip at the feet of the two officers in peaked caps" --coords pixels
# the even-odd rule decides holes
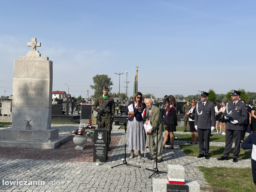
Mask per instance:
[[[196,157],[198,155],[198,151],[199,151],[198,145],[180,145],[179,147],[181,148],[181,150],[184,151],[184,153],[187,156]],[[210,146],[209,157],[216,157],[216,158],[221,157],[224,149],[225,149],[225,147]],[[230,157],[232,157],[233,151],[234,151],[234,147],[231,148],[231,151],[229,153]],[[251,155],[251,150],[241,149],[241,151],[239,153],[239,158],[249,159],[250,155]]]

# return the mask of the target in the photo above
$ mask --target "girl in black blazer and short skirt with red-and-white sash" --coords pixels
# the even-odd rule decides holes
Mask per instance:
[[[168,119],[168,123],[167,126],[165,128],[165,136],[164,136],[164,142],[163,145],[165,146],[165,143],[167,141],[168,138],[168,134],[170,135],[171,138],[171,146],[170,147],[166,147],[167,149],[173,149],[173,144],[174,144],[174,136],[173,136],[173,132],[176,132],[176,126],[178,125],[177,123],[177,115],[176,115],[176,100],[173,97],[173,95],[169,95],[168,96],[169,101],[167,100],[166,102],[168,102],[167,104],[167,108],[168,108],[168,112],[167,112],[167,119]]]

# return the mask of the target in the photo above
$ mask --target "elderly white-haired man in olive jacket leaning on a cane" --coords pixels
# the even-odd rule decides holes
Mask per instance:
[[[152,129],[148,131],[148,144],[149,144],[149,152],[150,152],[150,157],[148,159],[153,160],[156,158],[156,153],[157,153],[157,163],[160,163],[163,161],[162,156],[163,156],[163,132],[164,132],[164,126],[162,123],[162,117],[161,117],[161,111],[157,106],[153,105],[152,99],[146,99],[146,125],[148,122],[151,123]],[[158,120],[160,120],[159,124],[159,130],[158,130],[158,137],[155,131],[155,127],[157,126]],[[157,145],[157,151],[156,151],[156,145]]]

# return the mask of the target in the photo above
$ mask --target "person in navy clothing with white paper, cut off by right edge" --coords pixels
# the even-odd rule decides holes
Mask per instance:
[[[253,144],[256,145],[256,132],[249,134],[248,137],[242,142],[242,149],[252,149],[251,154],[251,165],[252,165],[252,178],[253,183],[256,185],[256,149],[254,149]]]

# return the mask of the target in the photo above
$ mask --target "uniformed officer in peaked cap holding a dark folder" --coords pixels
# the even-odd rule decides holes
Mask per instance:
[[[243,131],[243,122],[247,119],[246,104],[239,101],[238,98],[241,92],[232,90],[231,98],[233,101],[228,102],[226,110],[224,112],[226,123],[226,144],[222,157],[218,160],[228,160],[228,155],[233,144],[233,138],[235,139],[235,148],[233,152],[233,162],[238,162],[237,158],[240,153],[240,142]],[[233,121],[230,120],[230,116]]]

